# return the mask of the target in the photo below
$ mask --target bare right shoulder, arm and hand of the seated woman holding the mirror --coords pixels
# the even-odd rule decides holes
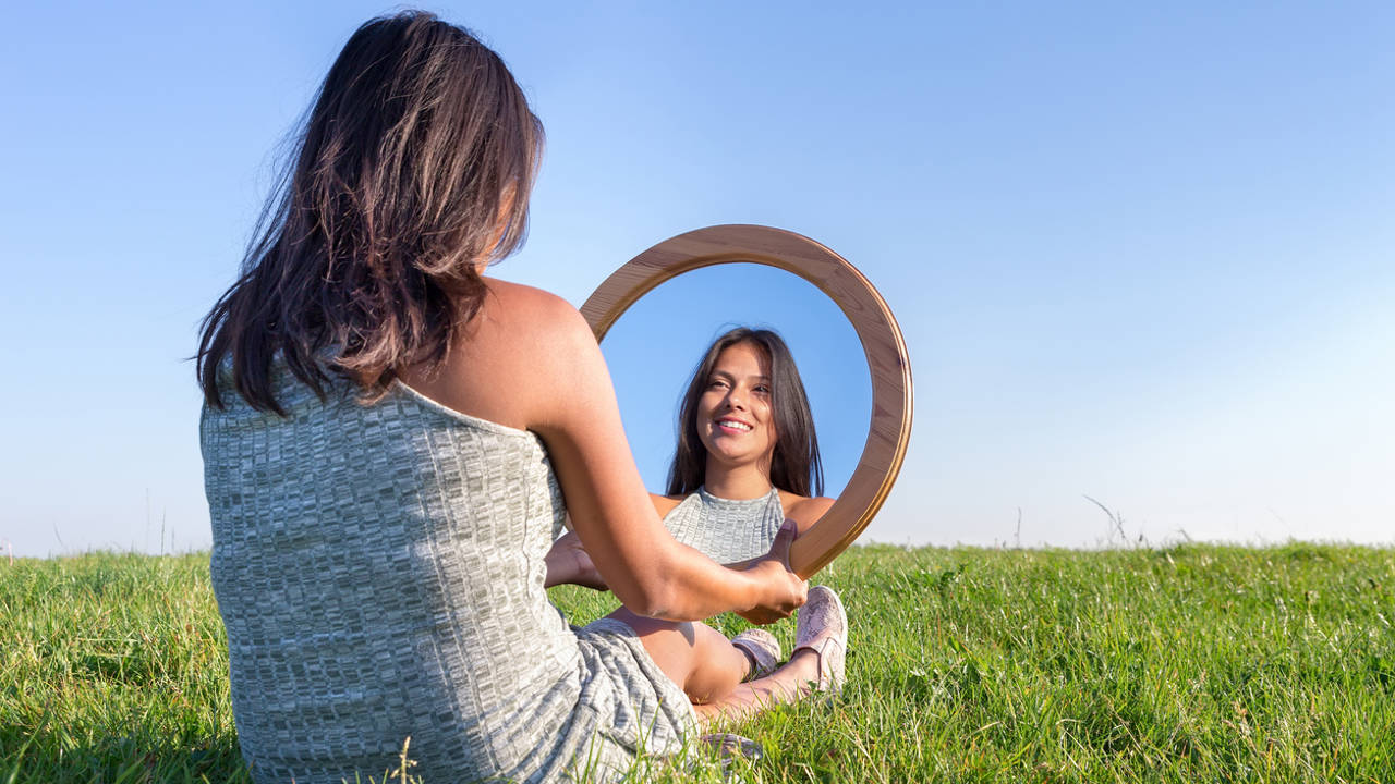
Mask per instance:
[[[537,289],[488,280],[491,296],[431,378],[407,379],[473,416],[537,432],[576,534],[615,596],[640,615],[696,621],[725,611],[774,621],[805,585],[777,548],[731,571],[664,529],[621,427],[610,372],[586,321]],[[794,530],[785,534],[784,559]]]

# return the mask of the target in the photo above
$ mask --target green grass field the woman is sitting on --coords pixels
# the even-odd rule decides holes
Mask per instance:
[[[748,783],[1395,781],[1392,550],[873,545],[817,582],[848,688],[735,727]],[[226,656],[206,555],[0,561],[0,784],[248,781]]]

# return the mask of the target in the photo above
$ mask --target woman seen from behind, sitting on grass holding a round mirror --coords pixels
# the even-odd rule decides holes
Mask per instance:
[[[523,240],[541,140],[466,31],[370,21],[205,319],[211,571],[258,783],[378,776],[409,737],[431,781],[605,777],[827,670],[836,622],[695,710],[678,685],[709,670],[696,643],[660,664],[626,626],[571,629],[548,604],[544,555],[568,511],[646,617],[771,622],[805,585],[792,529],[742,571],[674,541],[614,438],[585,321],[483,276]]]

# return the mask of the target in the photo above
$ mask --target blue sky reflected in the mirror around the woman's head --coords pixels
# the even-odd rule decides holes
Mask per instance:
[[[837,497],[862,455],[872,417],[862,343],[823,292],[760,264],[679,275],[640,297],[601,340],[644,487],[663,492],[679,399],[707,346],[734,326],[773,329],[790,346],[813,409],[823,494]]]

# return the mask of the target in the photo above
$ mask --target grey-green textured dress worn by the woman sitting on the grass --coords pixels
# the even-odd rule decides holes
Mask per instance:
[[[290,414],[225,392],[199,434],[233,716],[258,784],[605,780],[693,711],[628,626],[569,628],[543,589],[564,515],[536,435],[395,385]],[[589,771],[587,771],[589,769]]]

